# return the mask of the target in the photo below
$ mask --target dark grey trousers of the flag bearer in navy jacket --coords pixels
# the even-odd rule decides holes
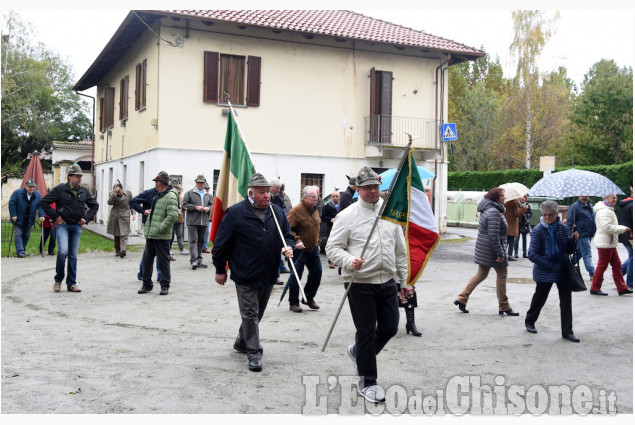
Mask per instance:
[[[236,294],[238,295],[238,309],[242,320],[236,344],[245,348],[248,354],[260,353],[262,355],[262,345],[260,344],[259,324],[267,309],[269,296],[273,289],[273,283],[259,288],[236,284]]]

